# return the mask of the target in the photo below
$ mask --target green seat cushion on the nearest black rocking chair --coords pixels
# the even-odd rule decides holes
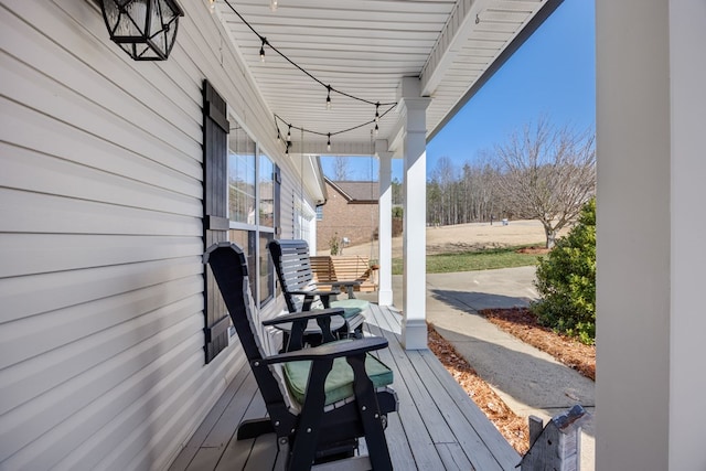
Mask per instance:
[[[284,365],[285,379],[289,392],[300,405],[304,403],[310,368],[310,361],[288,362]],[[365,371],[375,388],[393,383],[392,370],[371,354],[365,357]],[[324,390],[327,406],[353,396],[353,368],[351,368],[345,358],[335,358],[333,361],[333,368],[327,376]]]

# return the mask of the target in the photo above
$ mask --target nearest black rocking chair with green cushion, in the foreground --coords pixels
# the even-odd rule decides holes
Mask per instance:
[[[384,428],[387,414],[397,410],[397,396],[388,387],[392,371],[368,353],[385,349],[387,340],[339,340],[270,355],[263,324],[292,322],[296,335],[309,319],[325,329],[329,317],[341,309],[257,322],[242,249],[228,242],[215,244],[204,254],[204,263],[211,266],[268,413],[266,418],[242,422],[237,438],[276,433],[287,453],[288,470],[309,470],[341,457],[355,468],[392,470]],[[368,453],[354,456],[362,437]]]

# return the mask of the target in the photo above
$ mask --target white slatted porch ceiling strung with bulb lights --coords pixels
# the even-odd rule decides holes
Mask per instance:
[[[503,51],[512,50],[513,40],[535,28],[560,0],[279,0],[276,11],[270,0],[228,2],[269,44],[338,90],[373,104],[395,103],[402,78],[420,77],[422,95],[432,98],[429,137],[498,66]],[[328,153],[325,135],[331,132],[331,153],[368,153],[374,105],[332,93],[332,108],[327,109],[325,86],[267,46],[261,62],[257,34],[224,0],[217,0],[217,9],[272,116],[284,120],[281,132],[290,124],[323,135],[302,136],[293,129],[296,147],[303,138],[299,149]],[[392,144],[399,116],[391,106],[381,106],[381,115],[388,108],[375,139]],[[275,132],[274,126],[272,117]]]

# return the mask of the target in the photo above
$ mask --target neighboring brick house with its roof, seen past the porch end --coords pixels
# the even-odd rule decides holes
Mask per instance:
[[[377,239],[377,182],[331,181],[324,178],[328,200],[317,210],[317,251],[328,254],[331,240],[360,245]],[[345,254],[345,246],[343,246]]]

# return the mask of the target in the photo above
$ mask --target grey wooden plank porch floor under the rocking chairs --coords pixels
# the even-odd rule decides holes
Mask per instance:
[[[405,351],[402,315],[371,304],[367,330],[384,335],[379,356],[395,373],[399,411],[388,416],[389,452],[398,470],[514,470],[520,456],[430,351]],[[235,440],[243,418],[263,417],[265,405],[249,371],[243,371],[211,410],[171,470],[276,469],[274,435]],[[280,460],[281,461],[281,460]]]

